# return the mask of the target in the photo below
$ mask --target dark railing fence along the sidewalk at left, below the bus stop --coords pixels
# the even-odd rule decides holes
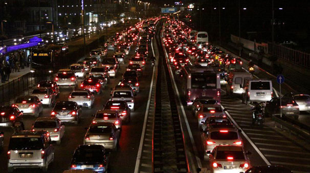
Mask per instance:
[[[11,100],[17,96],[29,94],[38,81],[46,79],[46,76],[36,76],[33,73],[27,73],[17,79],[0,86],[0,105],[8,105]]]

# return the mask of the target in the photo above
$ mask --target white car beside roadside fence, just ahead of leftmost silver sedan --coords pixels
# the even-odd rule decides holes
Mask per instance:
[[[51,88],[36,88],[31,92],[30,96],[38,97],[43,105],[49,107],[52,107],[56,102],[56,95]]]

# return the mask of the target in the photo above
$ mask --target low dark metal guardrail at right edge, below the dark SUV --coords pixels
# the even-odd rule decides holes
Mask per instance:
[[[272,116],[272,120],[284,126],[285,128],[289,129],[290,132],[293,132],[296,135],[306,139],[307,141],[310,141],[310,127],[309,126],[302,124],[298,121],[295,121],[293,119],[287,118],[287,117],[282,117],[281,119],[279,116]]]

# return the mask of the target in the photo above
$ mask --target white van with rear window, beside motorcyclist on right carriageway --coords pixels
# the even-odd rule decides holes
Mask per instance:
[[[266,102],[273,97],[272,81],[265,79],[246,80],[243,85],[242,101],[249,102]]]

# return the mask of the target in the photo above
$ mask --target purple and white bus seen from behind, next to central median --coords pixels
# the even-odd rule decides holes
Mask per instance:
[[[213,97],[220,102],[220,74],[211,67],[184,66],[180,71],[181,91],[188,106],[197,97]]]

